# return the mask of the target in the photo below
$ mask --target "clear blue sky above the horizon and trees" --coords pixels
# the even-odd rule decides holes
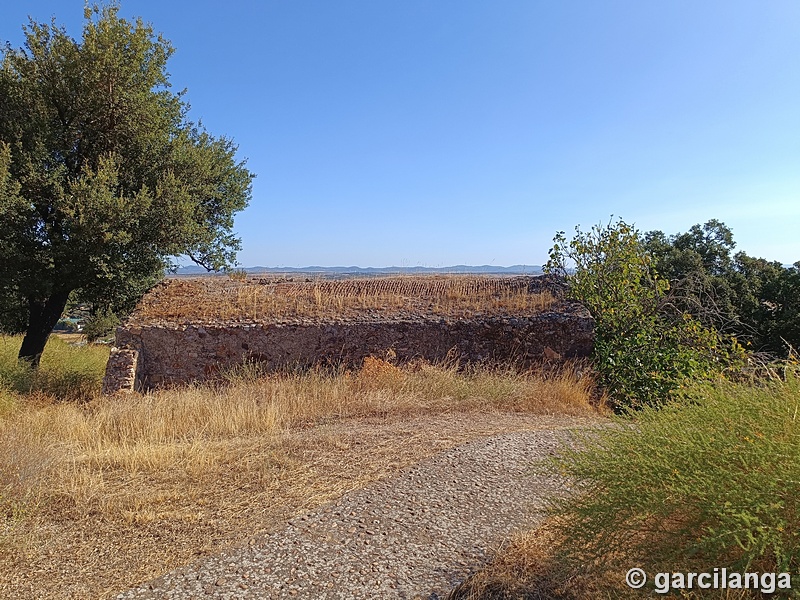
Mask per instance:
[[[541,264],[716,218],[800,260],[797,0],[128,0],[257,173],[245,266]],[[3,2],[76,38],[82,0]]]

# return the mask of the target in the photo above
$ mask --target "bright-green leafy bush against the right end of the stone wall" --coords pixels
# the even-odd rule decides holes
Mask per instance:
[[[570,241],[556,235],[546,270],[565,276],[594,317],[594,366],[617,408],[661,404],[730,363],[735,344],[672,309],[669,282],[634,227],[620,219],[575,232]]]

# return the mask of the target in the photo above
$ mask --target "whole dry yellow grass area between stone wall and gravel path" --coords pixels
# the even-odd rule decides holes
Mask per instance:
[[[591,419],[590,395],[569,371],[372,359],[355,373],[19,402],[0,418],[0,596],[111,597],[444,448]]]

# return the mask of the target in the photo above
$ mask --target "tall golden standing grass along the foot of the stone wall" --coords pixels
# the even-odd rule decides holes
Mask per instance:
[[[0,434],[13,433],[16,447],[52,446],[62,462],[66,457],[76,468],[137,472],[175,461],[202,468],[212,460],[207,447],[220,440],[273,435],[331,419],[490,409],[559,414],[590,410],[590,383],[569,370],[550,376],[491,369],[459,373],[428,364],[401,369],[368,358],[356,373],[318,370],[252,378],[243,370],[230,379],[230,385],[20,410],[0,422]],[[220,459],[217,451],[212,454]]]

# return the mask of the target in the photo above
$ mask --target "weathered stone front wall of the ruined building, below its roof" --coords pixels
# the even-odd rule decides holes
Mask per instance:
[[[398,362],[511,361],[523,366],[588,356],[594,321],[580,306],[531,316],[393,321],[185,324],[117,330],[116,345],[138,351],[142,389],[202,380],[258,361],[267,369],[318,363],[358,365],[366,356]]]

